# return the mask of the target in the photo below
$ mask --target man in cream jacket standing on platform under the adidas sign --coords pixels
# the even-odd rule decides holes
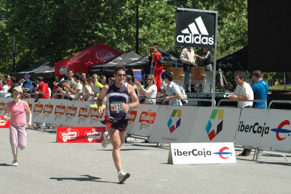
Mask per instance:
[[[195,53],[192,47],[184,48],[179,57],[184,66],[184,88],[189,90],[191,67],[195,66]]]

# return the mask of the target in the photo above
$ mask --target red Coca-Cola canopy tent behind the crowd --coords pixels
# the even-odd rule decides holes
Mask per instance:
[[[89,73],[89,67],[103,64],[122,53],[103,43],[94,45],[84,51],[81,51],[73,56],[70,56],[55,64],[55,76],[63,76],[67,70],[71,69],[74,72]]]

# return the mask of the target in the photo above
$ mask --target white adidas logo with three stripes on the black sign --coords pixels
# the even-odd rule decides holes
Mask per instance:
[[[196,44],[205,44],[205,45],[213,45],[214,43],[213,36],[208,37],[209,34],[201,16],[196,18],[195,21],[189,24],[187,28],[181,31],[181,33],[188,34],[188,35],[178,35],[177,42],[179,43],[196,43]],[[207,35],[207,36],[202,36],[202,35]]]

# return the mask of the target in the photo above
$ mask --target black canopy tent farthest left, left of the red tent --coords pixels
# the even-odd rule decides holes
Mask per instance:
[[[11,76],[15,76],[18,79],[23,78],[23,76],[27,73],[30,74],[32,78],[42,76],[44,79],[49,79],[54,77],[54,63],[50,59],[41,60],[27,70],[11,73]]]

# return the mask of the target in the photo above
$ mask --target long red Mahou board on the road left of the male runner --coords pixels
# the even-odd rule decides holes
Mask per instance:
[[[106,127],[57,127],[58,143],[101,143]]]

